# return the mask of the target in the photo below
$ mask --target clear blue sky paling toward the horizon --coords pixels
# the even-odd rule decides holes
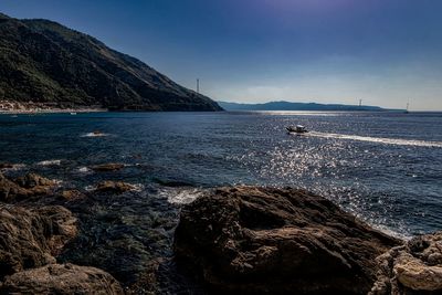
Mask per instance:
[[[0,0],[217,101],[442,110],[440,0]]]

